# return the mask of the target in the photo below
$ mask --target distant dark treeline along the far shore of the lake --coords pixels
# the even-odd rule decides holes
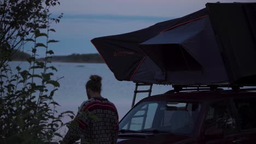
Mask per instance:
[[[26,61],[26,58],[31,57],[26,52],[17,51],[12,57],[13,61]],[[38,61],[43,61],[43,58],[38,58]],[[68,56],[53,56],[52,62],[76,62],[76,63],[103,63],[103,59],[98,53],[91,54],[72,54]]]

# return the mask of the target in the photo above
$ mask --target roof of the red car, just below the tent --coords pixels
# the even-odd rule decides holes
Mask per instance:
[[[153,95],[142,99],[142,101],[159,101],[159,100],[186,100],[186,101],[215,101],[222,98],[237,97],[242,98],[245,96],[255,96],[255,92],[249,91],[232,91],[232,90],[221,90],[221,91],[196,91],[196,92],[179,92],[170,94],[159,94]]]

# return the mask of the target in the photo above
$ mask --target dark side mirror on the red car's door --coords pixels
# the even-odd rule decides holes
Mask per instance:
[[[206,139],[222,139],[223,135],[223,129],[219,129],[216,127],[207,128],[205,131]]]

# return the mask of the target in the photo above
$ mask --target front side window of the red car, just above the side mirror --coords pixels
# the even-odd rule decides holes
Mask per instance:
[[[235,119],[227,101],[218,101],[210,106],[205,118],[205,126],[223,129],[226,133],[236,130]]]

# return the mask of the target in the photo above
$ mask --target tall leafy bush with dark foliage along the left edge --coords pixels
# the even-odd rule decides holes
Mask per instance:
[[[57,113],[54,93],[60,87],[53,80],[56,68],[48,66],[53,51],[49,50],[52,18],[49,9],[58,0],[0,1],[0,141],[1,143],[50,143],[60,136],[61,118],[74,117],[72,111]],[[33,44],[27,58],[28,69],[10,65],[15,52]],[[37,50],[45,49],[44,61],[37,61]]]

